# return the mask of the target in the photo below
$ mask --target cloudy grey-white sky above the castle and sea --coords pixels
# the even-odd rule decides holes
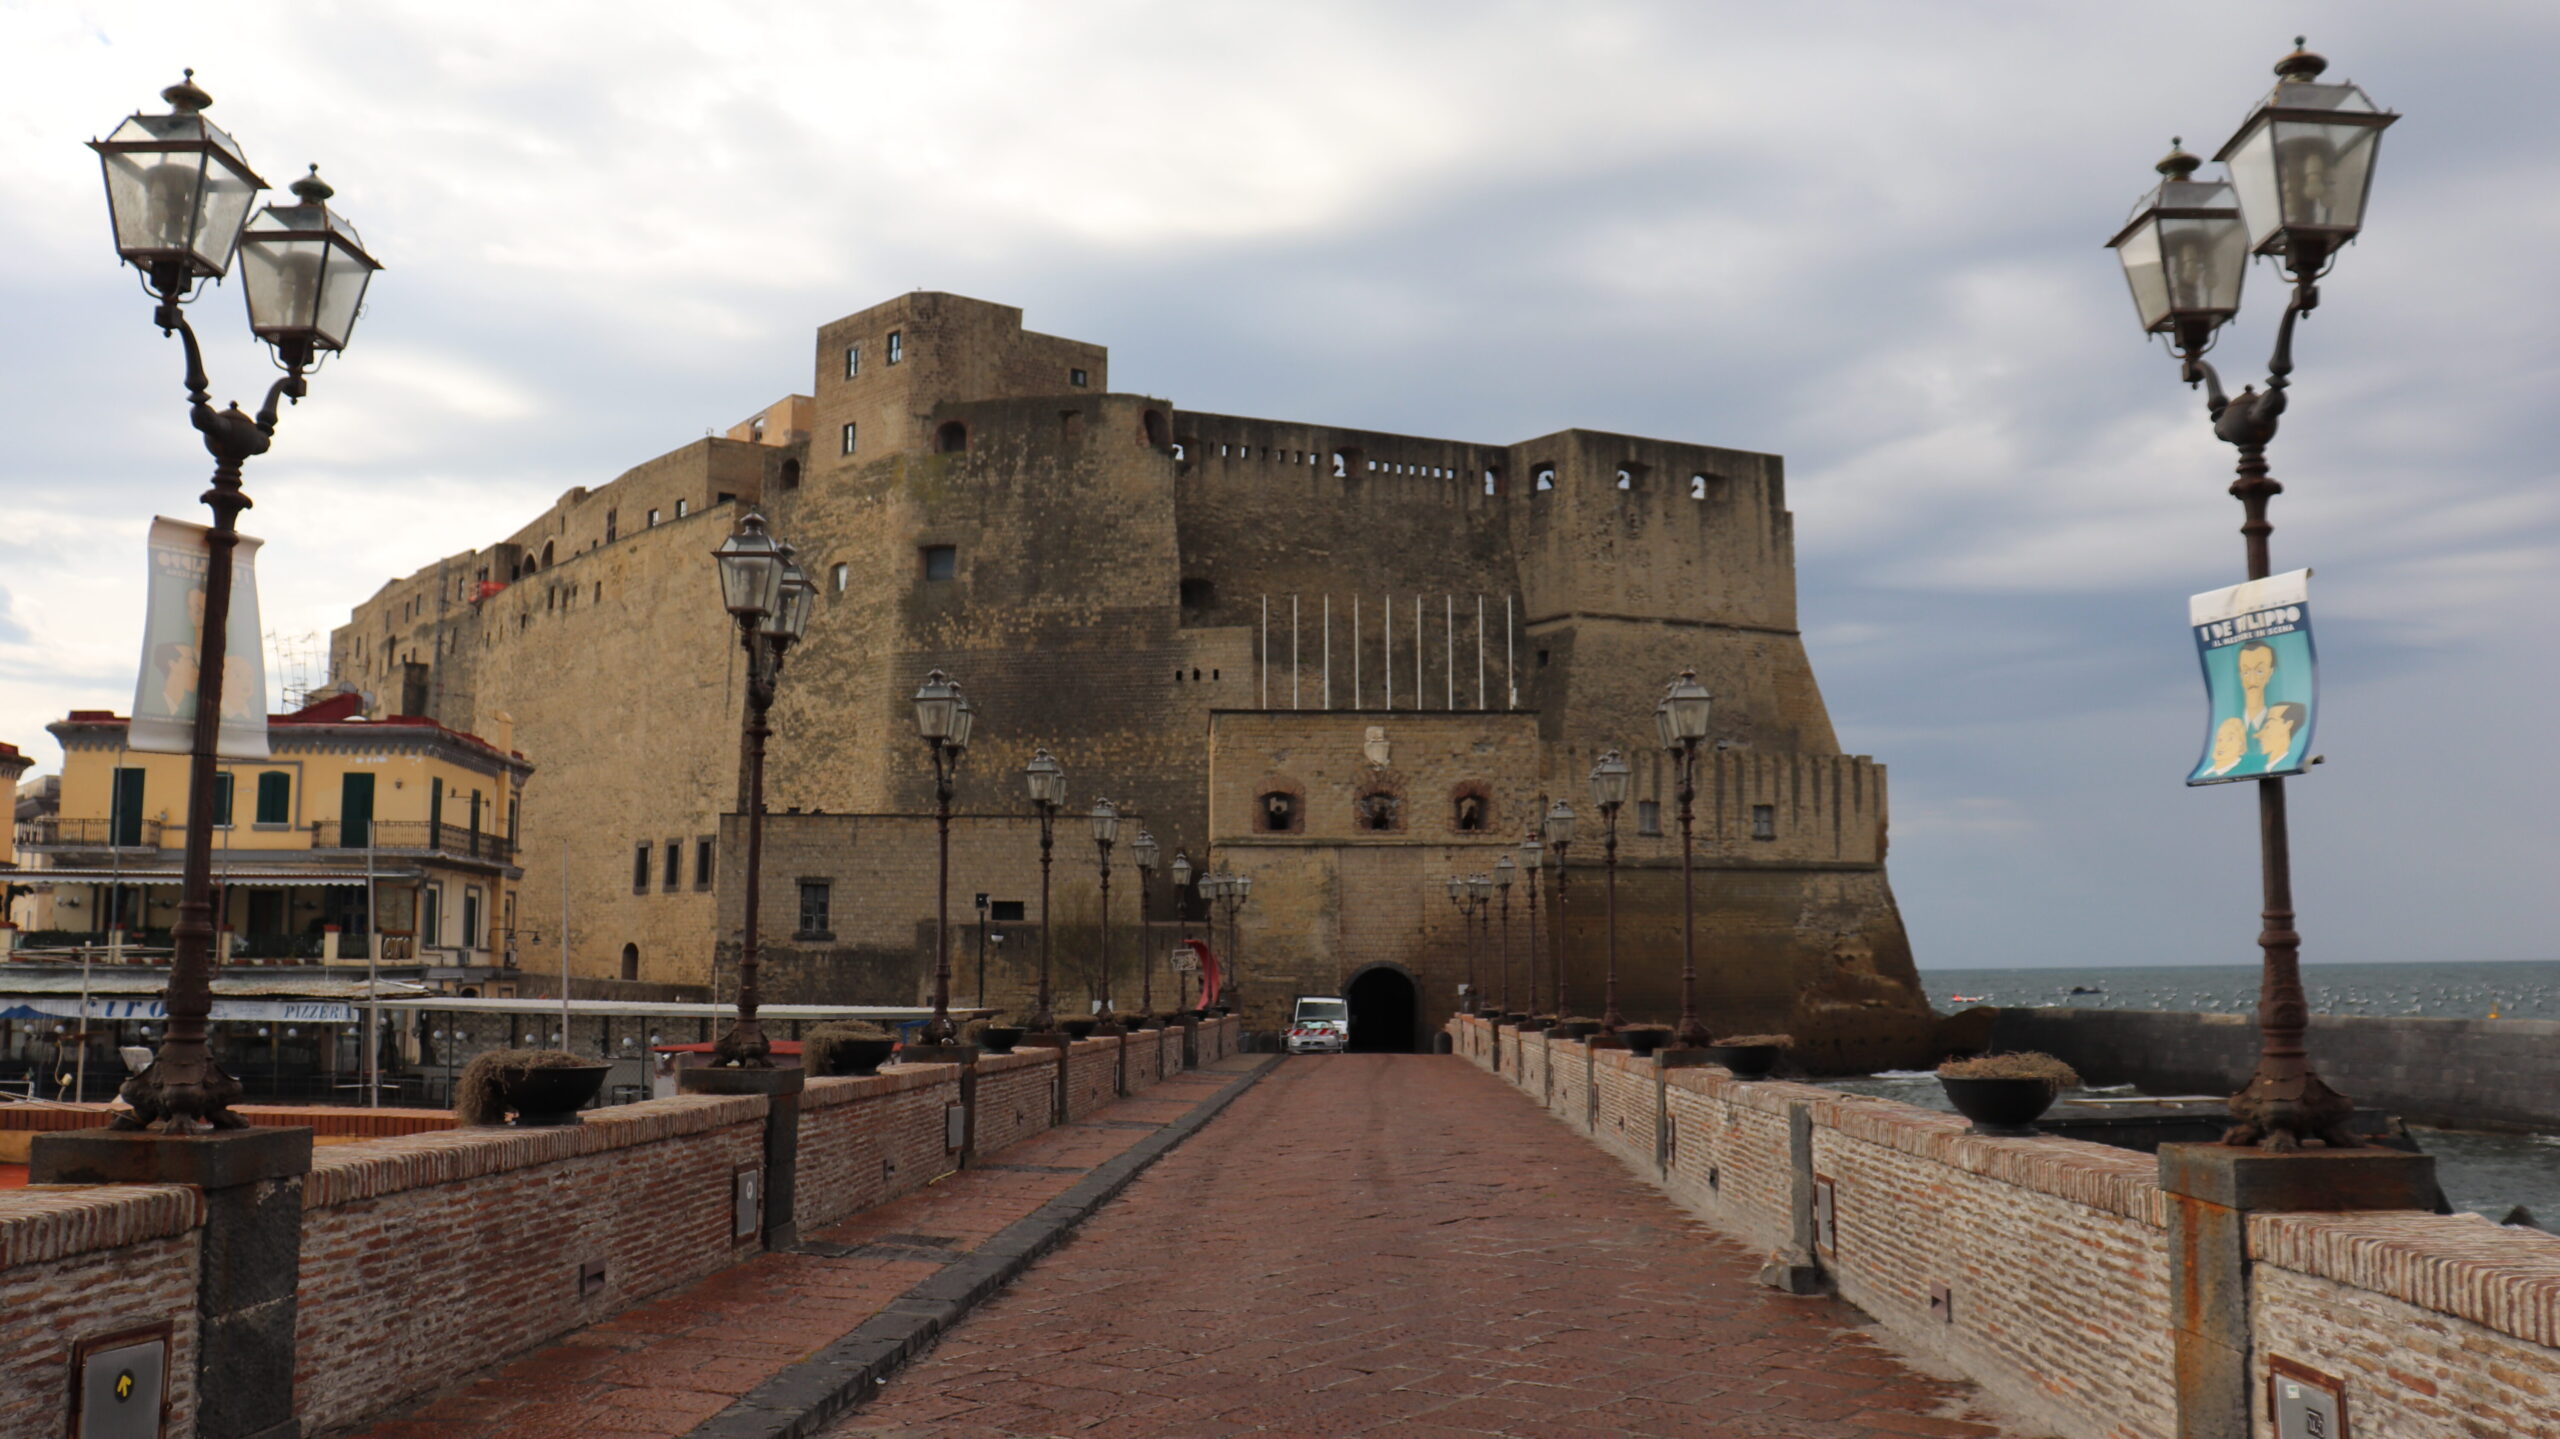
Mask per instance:
[[[51,768],[46,720],[131,704],[148,515],[202,515],[79,146],[195,67],[389,264],[251,466],[276,632],[952,289],[1201,410],[1784,453],[1920,963],[2253,963],[2250,786],[2179,784],[2230,451],[2099,246],[2301,28],[2406,115],[2273,448],[2276,563],[2319,571],[2307,958],[2555,958],[2560,8],[2524,3],[0,0],[0,740]],[[197,318],[256,405],[236,305]]]

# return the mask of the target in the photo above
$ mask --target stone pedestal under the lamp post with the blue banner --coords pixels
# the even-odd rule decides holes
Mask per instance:
[[[2435,1209],[2435,1157],[2401,1150],[2161,1145],[2168,1193],[2168,1321],[2179,1439],[2250,1439],[2248,1216],[2255,1211]]]

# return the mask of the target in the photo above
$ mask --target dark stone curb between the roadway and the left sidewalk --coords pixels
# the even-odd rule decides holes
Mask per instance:
[[[922,1355],[945,1329],[960,1324],[1021,1270],[1065,1242],[1078,1224],[1111,1203],[1129,1180],[1201,1132],[1239,1093],[1280,1063],[1265,1057],[1208,1096],[1198,1109],[1139,1139],[1121,1155],[1075,1180],[1065,1193],[1006,1224],[993,1239],[952,1260],[940,1273],[888,1301],[888,1308],[858,1324],[817,1355],[740,1395],[730,1408],[704,1419],[684,1439],[804,1439],[868,1401],[906,1360]]]

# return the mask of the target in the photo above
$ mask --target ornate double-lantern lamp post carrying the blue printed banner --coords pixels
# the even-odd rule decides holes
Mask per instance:
[[[2143,333],[2168,338],[2179,376],[2189,387],[2204,387],[2204,412],[2214,435],[2240,453],[2230,492],[2240,499],[2250,579],[2273,571],[2268,561],[2273,525],[2266,507],[2284,486],[2268,474],[2266,446],[2276,438],[2294,374],[2294,320],[2319,305],[2319,279],[2363,228],[2373,156],[2383,131],[2399,120],[2388,110],[2376,110],[2355,84],[2322,84],[2319,72],[2330,61],[2299,49],[2299,38],[2294,46],[2294,54],[2276,61],[2276,90],[2214,154],[2230,169],[2230,179],[2194,179],[2202,161],[2173,141],[2156,166],[2161,184],[2107,241],[2125,264]],[[2240,394],[2225,394],[2222,376],[2204,364],[2204,351],[2212,348],[2222,323],[2240,310],[2240,279],[2250,253],[2276,256],[2294,294],[2276,323],[2266,389],[2243,387]],[[2266,955],[2258,986],[2258,1070],[2248,1088],[2232,1096],[2235,1124],[2222,1142],[2299,1150],[2304,1139],[2317,1137],[2348,1150],[2355,1147],[2345,1132],[2353,1104],[2322,1083],[2304,1047],[2312,1009],[2301,993],[2291,837],[2284,778],[2276,776],[2258,781],[2258,865],[2263,883],[2258,947]]]

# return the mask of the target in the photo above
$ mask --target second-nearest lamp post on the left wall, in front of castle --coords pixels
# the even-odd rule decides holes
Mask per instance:
[[[737,932],[737,1024],[712,1045],[714,1065],[745,1070],[773,1068],[773,1045],[755,1019],[763,993],[755,986],[758,958],[763,955],[763,927],[758,906],[763,901],[765,853],[765,740],[773,737],[768,714],[773,691],[781,686],[783,655],[804,632],[817,602],[817,586],[791,563],[791,545],[765,533],[765,517],[748,510],[737,517],[737,533],[712,551],[719,561],[719,602],[737,622],[737,643],[748,650],[748,709],[740,722],[737,745],[748,768],[748,873],[745,873],[745,924]]]

